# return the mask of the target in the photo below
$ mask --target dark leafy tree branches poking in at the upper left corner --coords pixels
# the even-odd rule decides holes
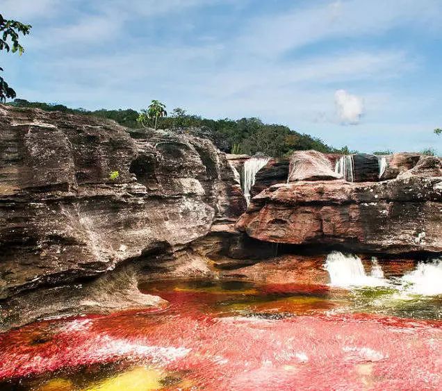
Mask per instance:
[[[16,20],[6,20],[0,14],[0,50],[4,49],[13,53],[18,51],[19,55],[22,56],[24,49],[19,44],[19,33],[26,35],[30,31],[30,24],[22,24]],[[0,71],[3,72],[3,68],[0,67]],[[14,99],[16,96],[15,91],[0,76],[0,101],[4,102],[7,98]]]

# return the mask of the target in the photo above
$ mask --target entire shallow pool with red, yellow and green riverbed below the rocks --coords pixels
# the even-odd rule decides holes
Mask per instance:
[[[441,296],[247,281],[153,281],[166,310],[0,335],[0,390],[436,390]]]

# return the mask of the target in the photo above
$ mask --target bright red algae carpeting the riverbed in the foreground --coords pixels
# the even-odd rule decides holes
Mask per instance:
[[[228,290],[172,288],[160,292],[171,303],[163,313],[42,321],[0,335],[0,379],[63,369],[75,376],[88,365],[125,363],[181,374],[181,385],[164,385],[167,390],[186,384],[194,390],[442,389],[440,321],[327,312],[272,317],[259,308],[242,316],[220,306]],[[231,290],[238,300],[241,293]],[[283,292],[277,286],[264,290]],[[295,290],[321,298],[326,288],[286,289]],[[252,299],[247,292],[249,287],[241,299]],[[273,302],[252,301],[258,307]]]

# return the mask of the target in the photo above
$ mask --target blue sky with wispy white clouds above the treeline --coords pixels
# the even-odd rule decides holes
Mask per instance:
[[[334,147],[442,152],[441,0],[1,0],[30,101],[260,117]]]

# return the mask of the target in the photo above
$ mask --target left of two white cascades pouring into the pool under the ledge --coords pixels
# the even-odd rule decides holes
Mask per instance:
[[[329,272],[330,285],[350,288],[357,286],[383,286],[386,285],[384,272],[377,260],[372,260],[372,274],[367,276],[363,269],[361,258],[333,251],[325,260],[324,269]]]

